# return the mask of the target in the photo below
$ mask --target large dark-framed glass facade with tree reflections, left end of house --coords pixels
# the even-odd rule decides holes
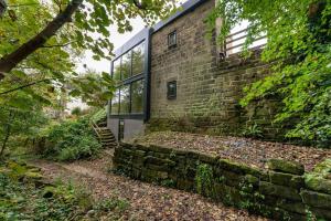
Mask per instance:
[[[113,62],[113,78],[118,90],[111,101],[110,115],[143,114],[145,42]]]

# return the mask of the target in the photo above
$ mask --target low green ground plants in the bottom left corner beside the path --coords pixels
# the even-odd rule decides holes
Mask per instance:
[[[17,177],[13,175],[21,176],[14,170],[0,172],[0,220],[68,220],[86,210],[79,206],[83,199],[92,202],[86,192],[73,186],[35,189],[33,183],[12,179]],[[44,192],[51,189],[54,194],[45,197]]]

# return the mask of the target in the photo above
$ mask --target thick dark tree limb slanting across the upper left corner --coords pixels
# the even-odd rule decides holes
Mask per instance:
[[[20,62],[31,53],[41,48],[51,36],[53,36],[66,22],[71,21],[72,15],[83,3],[83,0],[72,0],[63,12],[60,12],[40,33],[22,44],[14,52],[4,55],[0,60],[0,81]]]

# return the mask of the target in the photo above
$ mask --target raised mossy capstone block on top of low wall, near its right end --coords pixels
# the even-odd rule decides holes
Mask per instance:
[[[296,161],[288,161],[284,159],[270,159],[268,160],[268,168],[270,170],[280,171],[291,175],[303,175],[305,167],[303,165]]]

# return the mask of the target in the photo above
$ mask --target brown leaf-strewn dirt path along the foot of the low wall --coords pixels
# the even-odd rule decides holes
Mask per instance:
[[[45,160],[38,160],[33,164],[41,167],[44,176],[51,181],[62,179],[83,185],[96,200],[109,197],[128,200],[130,208],[124,220],[266,220],[249,215],[244,210],[211,202],[199,194],[116,176],[107,171],[111,167],[109,155],[104,155],[103,158],[96,160],[72,164]]]

